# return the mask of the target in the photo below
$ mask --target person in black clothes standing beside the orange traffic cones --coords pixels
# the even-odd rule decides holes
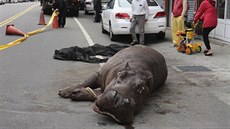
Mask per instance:
[[[66,2],[65,0],[55,0],[54,9],[58,9],[58,26],[64,28],[66,23]]]

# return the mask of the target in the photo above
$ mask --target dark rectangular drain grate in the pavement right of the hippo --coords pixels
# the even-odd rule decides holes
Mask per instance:
[[[208,72],[212,71],[204,66],[176,66],[182,72]]]

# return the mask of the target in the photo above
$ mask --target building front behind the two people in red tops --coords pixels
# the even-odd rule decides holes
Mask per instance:
[[[203,0],[188,0],[188,20],[192,21],[199,5]],[[230,44],[230,0],[216,0],[218,25],[210,33],[210,37],[226,41]],[[167,13],[167,25],[171,26],[172,8],[174,0],[162,0],[162,7]]]

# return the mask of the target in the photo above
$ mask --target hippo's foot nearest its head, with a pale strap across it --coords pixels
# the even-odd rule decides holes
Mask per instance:
[[[70,97],[73,101],[94,101],[97,98],[94,90],[91,88],[77,88],[71,93]]]

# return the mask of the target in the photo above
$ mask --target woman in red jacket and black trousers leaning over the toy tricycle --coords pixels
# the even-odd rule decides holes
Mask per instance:
[[[204,0],[194,17],[195,23],[197,23],[199,20],[203,20],[203,41],[206,46],[206,50],[204,50],[205,56],[212,55],[208,35],[217,26],[217,13],[215,3],[216,0]]]

